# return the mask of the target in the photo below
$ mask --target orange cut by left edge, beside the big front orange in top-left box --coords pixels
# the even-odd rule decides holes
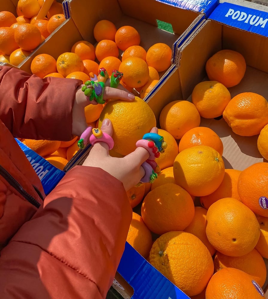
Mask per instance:
[[[14,38],[15,30],[10,27],[0,28],[0,51],[3,54],[10,55],[19,48]]]

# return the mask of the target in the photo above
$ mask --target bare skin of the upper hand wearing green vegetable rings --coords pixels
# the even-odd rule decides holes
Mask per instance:
[[[127,91],[122,84],[118,85],[118,88],[109,87],[110,79],[106,81],[107,86],[104,89],[103,99],[104,100],[125,100],[125,101],[133,101],[135,96]],[[87,127],[86,117],[85,117],[85,107],[87,105],[93,104],[97,105],[98,103],[93,100],[89,102],[86,98],[84,92],[81,90],[82,86],[80,85],[76,90],[76,96],[73,104],[73,129],[72,134],[76,136],[80,136]]]

